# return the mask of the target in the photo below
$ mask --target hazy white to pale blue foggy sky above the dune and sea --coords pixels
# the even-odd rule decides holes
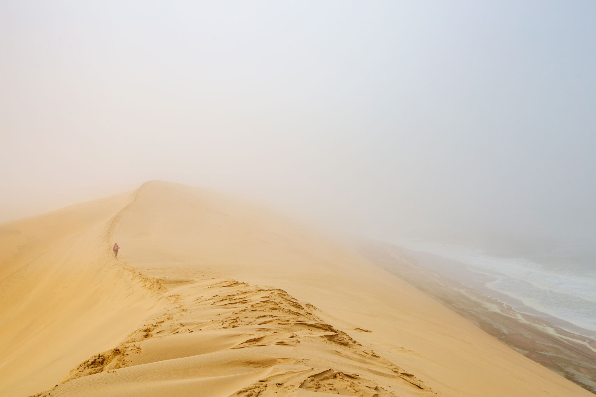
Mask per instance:
[[[163,179],[596,240],[596,2],[1,1],[0,35],[0,221]]]

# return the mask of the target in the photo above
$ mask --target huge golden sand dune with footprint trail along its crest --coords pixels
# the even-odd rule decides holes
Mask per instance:
[[[2,396],[592,395],[350,249],[212,191],[147,182],[0,238]]]

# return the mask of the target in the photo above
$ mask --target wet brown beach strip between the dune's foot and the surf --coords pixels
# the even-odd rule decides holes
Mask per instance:
[[[432,254],[416,255],[418,252],[399,246],[372,242],[361,244],[360,252],[510,348],[596,393],[596,340],[561,327],[567,325],[562,324],[566,321],[529,308],[521,301],[517,304],[516,299],[488,287],[470,287],[445,277],[432,269],[443,258]],[[426,268],[424,265],[429,265],[433,257],[436,262]],[[522,307],[529,308],[529,313],[516,310]]]

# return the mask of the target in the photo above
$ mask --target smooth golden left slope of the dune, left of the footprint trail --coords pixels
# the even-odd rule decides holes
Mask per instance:
[[[130,194],[0,225],[0,395],[53,386],[136,327],[157,300],[105,255]]]

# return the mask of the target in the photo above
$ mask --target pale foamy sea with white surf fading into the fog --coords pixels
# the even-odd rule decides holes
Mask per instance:
[[[527,253],[508,257],[491,255],[473,247],[400,240],[414,253],[448,259],[430,267],[440,275],[458,281],[513,306],[518,312],[544,317],[569,331],[596,337],[596,271],[594,263],[566,260],[564,253]],[[561,255],[563,254],[563,255]],[[542,262],[535,258],[548,258]],[[559,321],[552,321],[554,319]]]

